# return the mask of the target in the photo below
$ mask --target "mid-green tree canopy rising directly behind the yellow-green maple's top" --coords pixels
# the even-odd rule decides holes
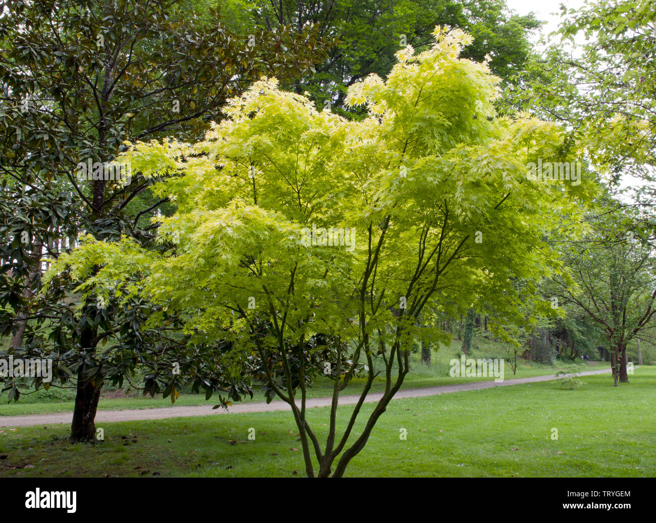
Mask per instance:
[[[540,26],[533,14],[511,14],[504,0],[305,0],[227,1],[226,9],[235,12],[250,8],[251,20],[240,16],[235,28],[271,29],[289,24],[300,31],[316,24],[319,35],[335,36],[339,44],[316,66],[316,74],[296,81],[292,87],[309,92],[319,107],[330,102],[340,114],[360,113],[345,104],[348,87],[375,73],[386,77],[396,62],[395,54],[405,45],[417,50],[432,45],[435,26],[459,28],[474,37],[463,50],[465,58],[481,62],[491,56],[490,67],[502,79],[522,70],[531,54],[530,31]],[[245,24],[245,25],[243,25]]]

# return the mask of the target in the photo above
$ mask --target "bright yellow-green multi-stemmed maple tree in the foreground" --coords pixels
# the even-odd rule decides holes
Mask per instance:
[[[268,400],[291,406],[308,476],[344,474],[400,389],[413,341],[447,336],[422,325],[424,309],[464,313],[485,296],[497,323],[522,320],[514,282],[525,295],[560,271],[545,239],[579,221],[592,191],[586,180],[527,178],[527,163],[573,154],[562,132],[498,117],[499,79],[487,62],[459,58],[471,38],[434,36],[425,52],[398,52],[385,81],[350,88],[348,103],[367,108],[362,121],[264,79],[203,142],[132,147],[125,156],[144,176],[178,173],[155,185],[177,205],[158,219],[174,252],[90,239],[52,269],[70,269],[101,299],[147,297],[162,311],[149,326],[165,311],[194,343],[229,343],[217,354],[224,372],[255,376]],[[535,298],[536,313],[549,307]],[[318,429],[306,396],[319,374],[334,388]],[[338,411],[358,374],[358,401]],[[363,407],[375,379],[382,396]]]

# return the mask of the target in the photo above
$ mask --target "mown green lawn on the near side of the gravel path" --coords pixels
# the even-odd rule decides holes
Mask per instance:
[[[575,391],[549,381],[393,400],[346,476],[656,476],[656,367],[636,369],[617,388],[609,376],[583,379]],[[350,412],[339,409],[340,427]],[[327,414],[308,411],[321,438]],[[98,427],[105,440],[93,446],[70,444],[65,425],[2,428],[0,475],[304,475],[289,412]]]

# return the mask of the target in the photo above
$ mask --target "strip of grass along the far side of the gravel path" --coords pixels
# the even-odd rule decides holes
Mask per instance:
[[[467,383],[470,381],[487,381],[494,378],[451,378],[449,376],[449,360],[459,356],[460,341],[453,340],[450,347],[442,347],[440,351],[432,354],[432,361],[430,366],[426,366],[419,361],[419,354],[411,354],[411,370],[403,381],[402,389],[411,389],[415,387],[434,387],[437,385],[453,385],[455,383]],[[501,343],[480,338],[476,347],[472,351],[473,358],[482,357],[503,357],[504,346]],[[564,363],[563,363],[564,364]],[[598,365],[591,365],[590,368],[602,368],[602,366],[609,364],[600,363]],[[543,376],[545,374],[554,374],[558,368],[521,360],[518,362],[518,370],[516,376],[513,376],[510,369],[505,370],[505,378],[529,378],[531,376]],[[583,365],[582,365],[583,368]],[[349,387],[347,387],[343,394],[354,395],[361,393],[364,384],[364,378],[353,379]],[[381,392],[384,390],[384,378],[379,377],[375,380],[372,392]],[[333,392],[333,381],[329,378],[319,378],[314,385],[308,389],[308,397],[322,398],[329,397]],[[120,394],[117,394],[120,393]],[[116,398],[116,396],[123,396]],[[255,391],[254,397],[247,397],[246,401],[264,401],[264,395]],[[51,387],[49,391],[43,389],[36,393],[23,394],[18,402],[7,402],[7,395],[0,394],[0,416],[24,416],[28,414],[54,414],[57,412],[73,412],[75,400],[75,389],[59,389]],[[279,400],[277,397],[274,401]],[[218,397],[213,396],[209,400],[205,400],[203,394],[182,393],[176,400],[176,406],[194,406],[194,405],[212,405],[218,403]],[[139,408],[160,408],[170,407],[171,400],[169,398],[162,398],[161,395],[152,398],[150,396],[142,396],[136,391],[128,391],[125,397],[125,391],[105,391],[104,396],[98,404],[98,410],[127,410]]]

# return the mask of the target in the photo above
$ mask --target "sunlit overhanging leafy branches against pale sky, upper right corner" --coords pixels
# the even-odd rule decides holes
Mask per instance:
[[[624,177],[626,191],[651,207],[656,7],[648,0],[611,0],[561,9],[563,42],[527,63],[523,76],[530,80],[515,94],[527,109],[567,122],[573,137],[585,136],[592,165],[607,170],[612,185]],[[575,37],[585,43],[577,45]],[[640,183],[630,183],[635,178]]]

